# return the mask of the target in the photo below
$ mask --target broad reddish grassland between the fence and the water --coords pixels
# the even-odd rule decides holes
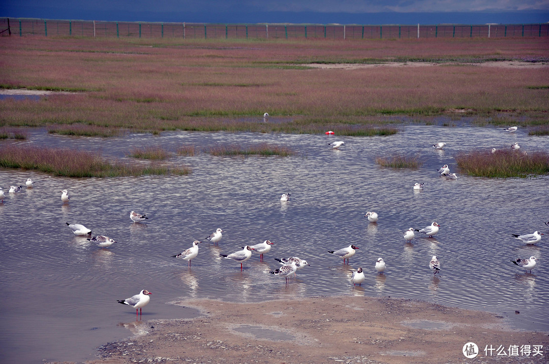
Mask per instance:
[[[429,67],[312,69],[310,62],[442,62]],[[481,117],[547,124],[545,38],[197,41],[0,38],[0,87],[70,90],[40,101],[0,100],[0,126],[90,124],[132,130],[322,132],[382,124],[383,115]],[[242,122],[257,116],[262,122]],[[289,122],[276,122],[290,116]],[[220,118],[223,120],[220,120]],[[314,127],[314,126],[317,127]],[[318,127],[318,126],[321,127]],[[348,130],[345,130],[346,127]],[[354,135],[354,134],[353,134]]]

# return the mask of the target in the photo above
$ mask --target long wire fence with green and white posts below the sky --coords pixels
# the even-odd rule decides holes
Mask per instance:
[[[549,24],[200,24],[0,18],[0,36],[8,35],[189,39],[502,38],[547,37]]]

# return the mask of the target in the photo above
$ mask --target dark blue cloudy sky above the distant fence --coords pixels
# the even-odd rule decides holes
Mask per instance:
[[[0,16],[229,24],[520,24],[548,22],[549,0],[4,0]]]

